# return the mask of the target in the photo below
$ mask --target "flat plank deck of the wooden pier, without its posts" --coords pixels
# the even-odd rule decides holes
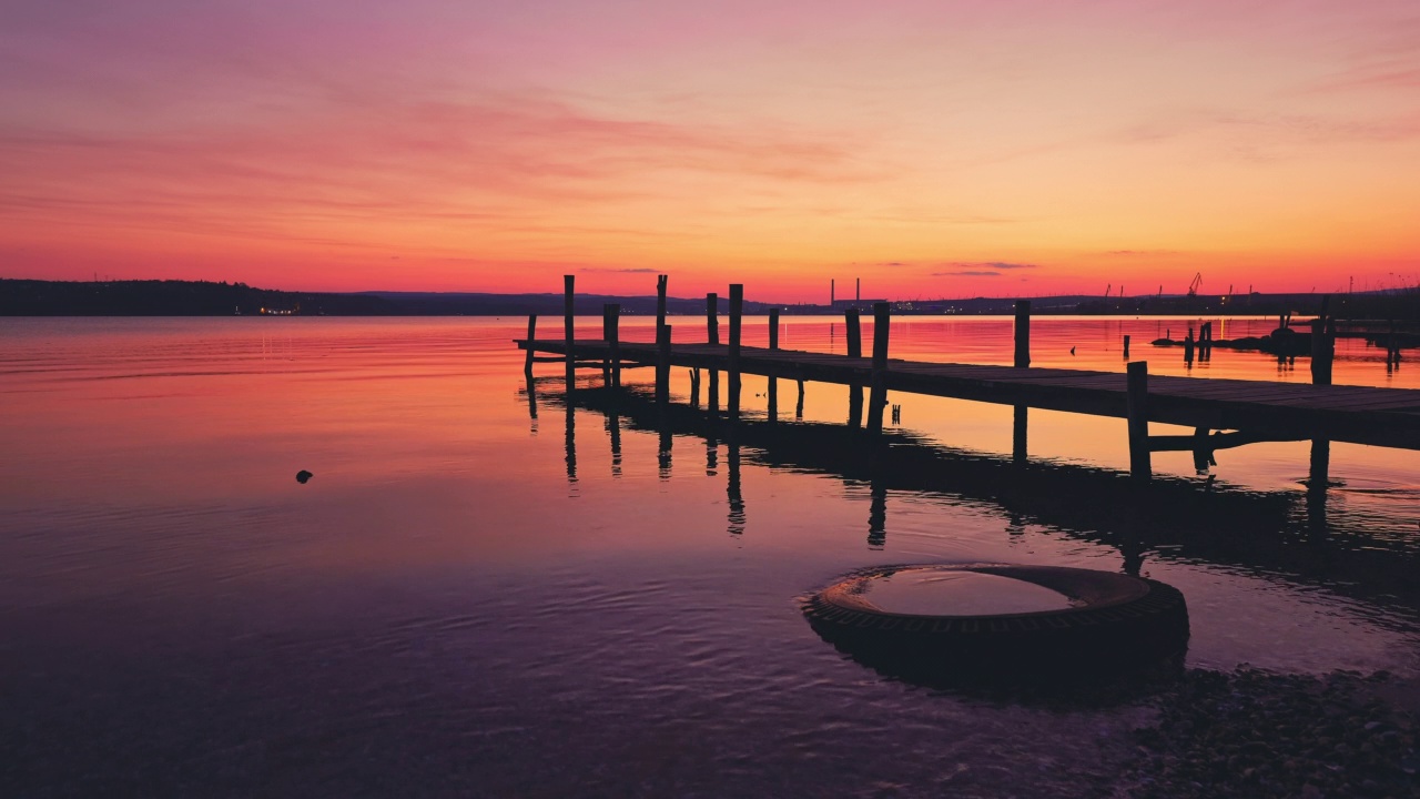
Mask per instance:
[[[535,354],[567,357],[565,340],[538,338],[518,347]],[[655,365],[656,344],[618,343],[622,363]],[[713,371],[730,370],[726,344],[672,344],[669,365]],[[612,357],[612,343],[575,340],[572,358],[601,368]],[[775,378],[866,387],[872,358],[828,353],[741,347],[738,370]],[[1127,377],[1123,372],[941,364],[889,358],[882,372],[889,391],[995,402],[1049,411],[1127,418]],[[1211,448],[1268,439],[1331,439],[1373,446],[1420,449],[1420,390],[1306,385],[1271,381],[1149,375],[1147,409],[1152,422],[1196,429],[1242,431],[1237,438],[1211,436]],[[1154,436],[1191,438],[1191,436]],[[1174,442],[1179,444],[1179,442]],[[1186,449],[1164,442],[1152,449]]]

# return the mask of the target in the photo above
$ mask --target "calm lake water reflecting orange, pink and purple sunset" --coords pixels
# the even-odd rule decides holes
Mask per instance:
[[[579,320],[592,334],[599,320]],[[677,340],[703,321],[672,318]],[[547,321],[544,321],[547,324]],[[1189,320],[1032,323],[1034,365],[1309,382],[1149,340]],[[1227,320],[1217,338],[1265,334]],[[893,395],[875,482],[846,390],[746,378],[734,445],[657,431],[561,367],[530,405],[525,320],[0,320],[0,795],[1074,796],[1137,702],[1056,707],[880,675],[798,597],[872,564],[1010,562],[1179,587],[1190,668],[1420,672],[1420,456],[1308,442],[1156,454],[1116,512],[1125,422]],[[623,321],[652,340],[652,320]],[[866,331],[865,331],[866,333]],[[545,331],[548,336],[559,334]],[[746,320],[746,343],[767,340]],[[900,318],[895,357],[1010,363],[1004,318]],[[845,348],[790,317],[785,348]],[[866,347],[866,344],[865,344]],[[1075,354],[1071,354],[1075,347]],[[626,374],[636,388],[650,370]],[[1339,343],[1338,384],[1420,388]],[[673,395],[689,378],[677,370]],[[709,432],[707,432],[709,431]],[[1154,432],[1170,431],[1156,425]],[[932,468],[919,468],[930,463]],[[294,479],[310,469],[307,485]],[[1211,476],[1214,486],[1204,492]]]

